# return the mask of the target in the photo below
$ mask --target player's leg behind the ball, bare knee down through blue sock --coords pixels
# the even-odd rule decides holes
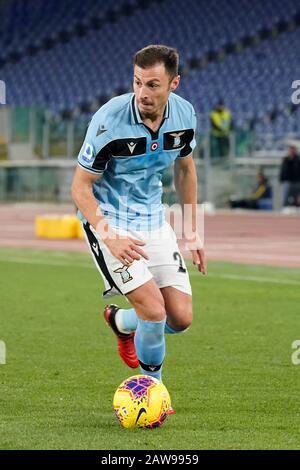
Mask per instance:
[[[134,343],[141,372],[161,380],[166,323],[163,296],[155,282],[150,280],[127,297],[138,314]]]

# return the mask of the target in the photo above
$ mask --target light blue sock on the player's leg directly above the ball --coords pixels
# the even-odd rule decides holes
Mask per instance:
[[[166,320],[151,322],[138,319],[134,343],[141,364],[141,373],[161,381],[162,363],[165,357]]]

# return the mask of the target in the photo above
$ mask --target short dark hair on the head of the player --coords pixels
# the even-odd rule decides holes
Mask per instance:
[[[164,64],[167,73],[174,78],[178,75],[179,54],[173,47],[151,44],[135,53],[133,64],[142,69]]]

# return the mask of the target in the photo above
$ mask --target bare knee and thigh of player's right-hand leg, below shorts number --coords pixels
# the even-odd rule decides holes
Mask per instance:
[[[160,289],[165,302],[167,322],[175,330],[185,330],[193,319],[192,296],[174,287]]]

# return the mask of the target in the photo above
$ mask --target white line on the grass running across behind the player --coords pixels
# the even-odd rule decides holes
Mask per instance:
[[[30,259],[30,258],[17,258],[17,257],[3,257],[0,256],[0,262],[9,262],[9,263],[20,263],[20,264],[37,264],[44,266],[58,266],[65,268],[84,268],[84,269],[95,269],[94,264],[88,263],[66,263],[59,260],[42,260],[42,259]],[[190,276],[199,276],[198,272],[191,272]],[[231,281],[252,281],[259,282],[260,284],[282,284],[288,286],[300,286],[300,281],[294,279],[274,279],[271,277],[261,277],[261,276],[243,276],[240,274],[222,274],[211,272],[208,274],[208,277],[215,277],[219,279],[231,280]]]

